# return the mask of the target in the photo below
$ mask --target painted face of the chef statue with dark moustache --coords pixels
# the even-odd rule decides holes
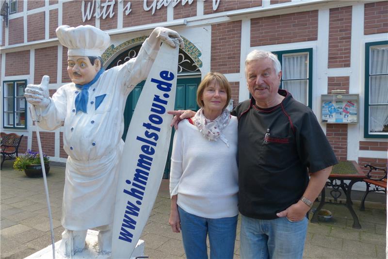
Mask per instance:
[[[69,56],[67,58],[67,73],[73,83],[87,84],[92,81],[100,70],[99,60],[94,65],[85,56]]]

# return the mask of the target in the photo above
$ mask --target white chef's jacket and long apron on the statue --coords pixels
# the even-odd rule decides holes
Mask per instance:
[[[135,85],[146,79],[159,49],[160,41],[152,48],[147,39],[136,58],[102,73],[89,87],[87,113],[76,113],[74,101],[81,90],[74,83],[61,86],[41,113],[41,128],[64,126],[68,158],[62,225],[66,229],[83,230],[113,222],[126,100]]]

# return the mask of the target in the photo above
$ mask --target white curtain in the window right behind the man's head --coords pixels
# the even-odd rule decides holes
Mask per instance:
[[[307,79],[307,67],[307,53],[283,55],[283,89],[289,91],[294,97],[294,99],[300,101],[301,103],[304,103],[305,105],[308,104],[308,80],[291,81],[290,79]]]

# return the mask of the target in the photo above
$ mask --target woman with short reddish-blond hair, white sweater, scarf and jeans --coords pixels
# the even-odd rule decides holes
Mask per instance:
[[[237,226],[237,118],[226,109],[231,96],[221,73],[198,86],[194,117],[179,123],[171,156],[169,223],[182,230],[188,259],[232,259]]]

